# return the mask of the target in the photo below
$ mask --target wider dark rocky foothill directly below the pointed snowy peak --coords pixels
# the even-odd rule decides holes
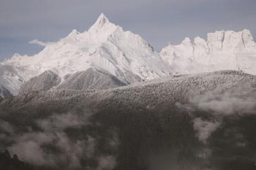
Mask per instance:
[[[96,69],[76,72],[69,76],[57,89],[63,90],[88,90],[88,89],[108,89],[125,86],[127,83],[121,82],[117,77],[109,75]]]

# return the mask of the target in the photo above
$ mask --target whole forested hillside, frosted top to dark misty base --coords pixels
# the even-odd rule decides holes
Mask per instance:
[[[0,147],[39,169],[253,170],[255,96],[256,77],[229,70],[31,91],[0,100]]]

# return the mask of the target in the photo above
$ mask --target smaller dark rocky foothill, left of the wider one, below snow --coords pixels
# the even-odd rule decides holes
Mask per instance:
[[[26,82],[21,86],[19,94],[27,93],[28,91],[40,91],[49,90],[61,82],[61,78],[56,75],[53,71],[44,71],[43,74],[31,78],[30,81]]]

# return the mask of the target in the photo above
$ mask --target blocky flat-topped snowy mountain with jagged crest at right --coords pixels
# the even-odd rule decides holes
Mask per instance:
[[[256,43],[247,29],[208,33],[207,41],[185,38],[179,45],[168,44],[160,56],[174,74],[230,69],[256,75]]]

